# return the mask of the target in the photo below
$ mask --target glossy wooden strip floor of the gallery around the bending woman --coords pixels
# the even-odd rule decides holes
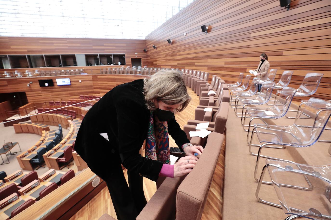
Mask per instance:
[[[187,121],[194,119],[195,108],[199,105],[199,96],[197,96],[190,88],[189,95],[192,97],[192,103],[183,112],[175,114],[176,120],[183,128]],[[177,146],[173,139],[169,137],[170,146]],[[223,179],[224,179],[224,154],[225,141],[221,153],[218,157],[215,173],[209,189],[206,206],[201,219],[221,219],[222,218],[222,198],[223,198]],[[127,179],[126,170],[124,170],[125,178]],[[144,178],[144,192],[146,200],[149,201],[156,191],[156,183],[147,178]],[[92,200],[83,206],[71,219],[98,219],[104,213],[116,218],[112,200],[107,187],[101,190]]]

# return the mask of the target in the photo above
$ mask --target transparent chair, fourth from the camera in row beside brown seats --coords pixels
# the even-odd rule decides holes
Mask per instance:
[[[261,92],[259,94],[257,93],[255,96],[251,96],[251,97],[239,96],[237,99],[236,106],[234,108],[234,112],[236,113],[237,117],[243,117],[244,109],[248,105],[263,105],[267,103],[271,97],[272,89],[274,85],[275,85],[274,82],[266,81],[262,84]],[[241,113],[237,112],[239,103],[243,104]],[[238,114],[241,114],[241,116],[238,116]]]

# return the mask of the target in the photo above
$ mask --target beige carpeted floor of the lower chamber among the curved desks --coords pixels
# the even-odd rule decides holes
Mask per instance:
[[[30,122],[27,121],[27,122]],[[57,130],[58,127],[57,126],[49,126],[50,130]],[[67,129],[63,129],[63,136],[65,137],[69,130]],[[0,147],[2,147],[4,142],[19,142],[20,146],[21,146],[21,150],[26,151],[28,148],[30,148],[34,143],[36,143],[38,140],[40,139],[39,135],[36,134],[16,134],[14,127],[13,126],[8,126],[5,127],[3,124],[0,124]],[[15,146],[11,151],[12,152],[16,152],[19,151],[20,148],[19,146]],[[20,154],[21,152],[17,153],[16,155],[10,155],[8,156],[8,159],[10,161],[9,164],[3,164],[0,165],[0,171],[5,171],[8,174],[11,174],[17,170],[22,170],[22,168],[20,167],[16,156],[18,154]],[[7,160],[6,155],[2,155],[2,158],[5,160]],[[2,160],[0,159],[0,163],[2,163]],[[48,168],[39,168],[38,170],[36,170],[36,172],[38,173],[38,176],[47,172]],[[26,172],[30,172],[30,171],[26,171]]]

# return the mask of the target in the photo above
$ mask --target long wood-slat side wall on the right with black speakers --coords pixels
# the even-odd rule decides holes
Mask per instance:
[[[278,69],[275,81],[293,70],[290,86],[298,88],[307,73],[323,73],[313,96],[331,99],[329,0],[295,0],[290,10],[279,0],[196,0],[149,34],[146,48],[148,66],[206,71],[226,82],[256,69],[265,52]]]

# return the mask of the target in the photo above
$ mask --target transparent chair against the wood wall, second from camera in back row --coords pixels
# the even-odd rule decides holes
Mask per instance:
[[[302,81],[301,85],[297,89],[297,92],[294,94],[295,97],[304,97],[304,96],[310,96],[314,94],[318,88],[318,85],[322,79],[323,74],[322,73],[308,73],[304,80]],[[277,91],[278,92],[278,91]],[[300,104],[302,105],[302,104]],[[299,106],[300,108],[300,106]],[[298,110],[289,110],[289,111],[294,111],[297,112]],[[308,116],[307,114],[305,114]],[[288,117],[285,115],[287,118],[295,118],[295,117]],[[306,117],[306,118],[309,118]]]

